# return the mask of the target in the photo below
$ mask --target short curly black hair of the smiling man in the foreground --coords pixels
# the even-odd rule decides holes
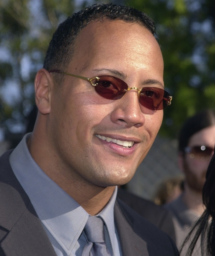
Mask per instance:
[[[71,61],[74,42],[80,30],[89,22],[104,18],[139,23],[158,40],[155,23],[145,13],[119,4],[94,4],[74,13],[58,26],[49,44],[43,67],[48,71],[54,69],[64,71]],[[57,82],[61,81],[62,74],[55,73],[54,76]]]

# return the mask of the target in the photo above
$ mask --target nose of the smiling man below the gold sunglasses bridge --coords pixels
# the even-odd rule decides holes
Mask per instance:
[[[138,90],[130,89],[114,104],[114,110],[111,113],[113,123],[123,124],[126,128],[141,127],[144,124],[145,118],[139,105]]]

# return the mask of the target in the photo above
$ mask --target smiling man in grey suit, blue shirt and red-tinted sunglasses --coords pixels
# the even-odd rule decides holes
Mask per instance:
[[[171,102],[154,32],[148,16],[113,4],[59,25],[35,77],[33,133],[1,158],[0,255],[178,255],[115,200]]]

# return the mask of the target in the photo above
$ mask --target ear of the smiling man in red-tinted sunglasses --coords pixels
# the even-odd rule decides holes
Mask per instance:
[[[53,79],[44,68],[40,69],[34,80],[35,102],[40,113],[48,114],[51,111],[51,92]]]

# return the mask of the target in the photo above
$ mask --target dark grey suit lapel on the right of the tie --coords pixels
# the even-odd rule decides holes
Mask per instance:
[[[117,201],[114,206],[114,222],[123,256],[149,256],[146,242],[134,232],[132,218],[124,214]]]

